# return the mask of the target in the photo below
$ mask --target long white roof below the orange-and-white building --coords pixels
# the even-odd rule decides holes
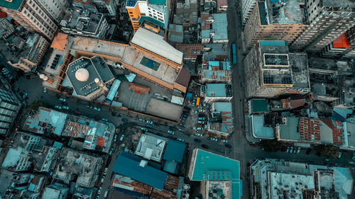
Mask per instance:
[[[134,34],[131,43],[170,59],[177,64],[182,64],[182,52],[168,44],[162,36],[149,30],[139,28]]]

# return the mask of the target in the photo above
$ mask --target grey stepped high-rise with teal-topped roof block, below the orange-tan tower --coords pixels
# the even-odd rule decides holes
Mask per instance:
[[[310,92],[307,54],[288,52],[285,41],[258,41],[246,56],[245,68],[248,98]]]

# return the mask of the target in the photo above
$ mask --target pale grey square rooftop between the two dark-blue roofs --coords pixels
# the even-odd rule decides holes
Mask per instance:
[[[144,159],[160,162],[165,143],[165,140],[160,140],[159,137],[142,134],[134,154]]]

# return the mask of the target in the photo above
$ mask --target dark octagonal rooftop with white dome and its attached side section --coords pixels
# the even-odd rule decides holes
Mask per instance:
[[[103,81],[103,84],[114,79],[114,75],[102,57],[82,57],[75,60],[67,67],[67,76],[75,92],[80,96],[88,96],[99,89],[95,79]]]

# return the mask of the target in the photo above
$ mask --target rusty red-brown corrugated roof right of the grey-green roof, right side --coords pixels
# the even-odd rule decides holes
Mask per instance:
[[[317,118],[300,118],[298,130],[301,139],[306,141],[320,141],[320,120]]]

